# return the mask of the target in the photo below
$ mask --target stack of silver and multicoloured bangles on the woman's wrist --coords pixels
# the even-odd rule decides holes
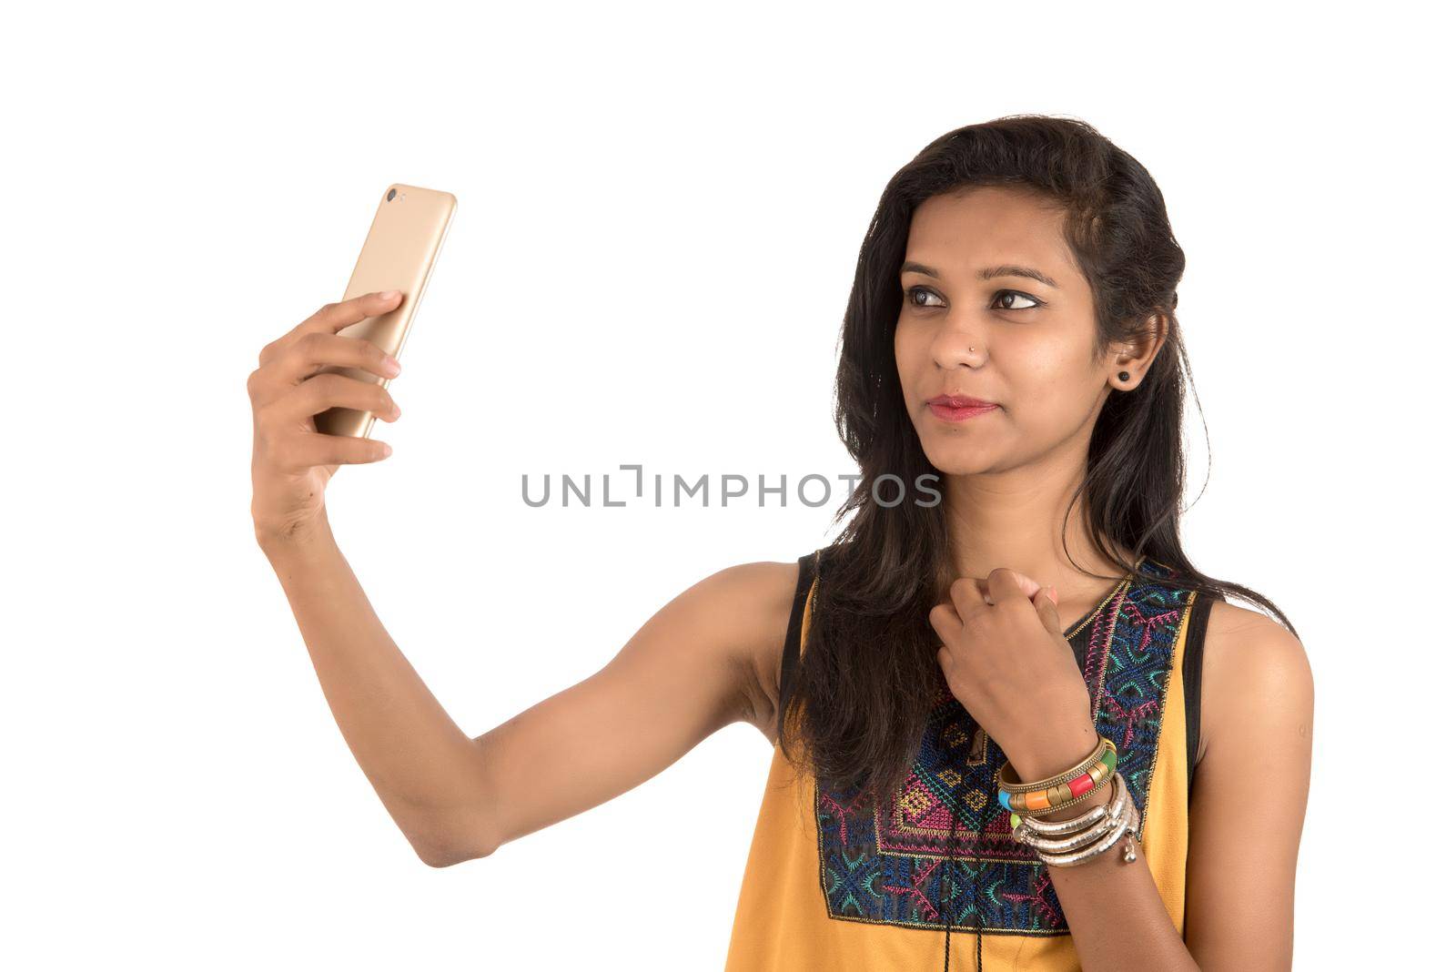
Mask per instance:
[[[1137,832],[1137,806],[1127,781],[1117,771],[1117,746],[1099,738],[1096,749],[1066,773],[1019,783],[1009,764],[996,774],[1000,805],[1010,810],[1012,837],[1031,847],[1042,863],[1067,867],[1098,857],[1127,837],[1124,861],[1137,860],[1133,838]],[[1047,813],[1080,803],[1112,787],[1108,803],[1099,803],[1070,821],[1042,821]]]

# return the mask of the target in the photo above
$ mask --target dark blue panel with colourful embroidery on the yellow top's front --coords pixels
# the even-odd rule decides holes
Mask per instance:
[[[1144,569],[1162,581],[1133,581],[1098,611],[1083,668],[1096,729],[1118,745],[1118,770],[1139,810],[1147,808],[1174,643],[1190,604],[1171,567],[1147,560]],[[862,793],[826,792],[815,781],[828,915],[939,928],[948,902],[954,927],[973,927],[978,915],[986,933],[1067,934],[1045,864],[1012,840],[1010,815],[994,799],[1005,760],[946,688],[893,812],[875,813]]]

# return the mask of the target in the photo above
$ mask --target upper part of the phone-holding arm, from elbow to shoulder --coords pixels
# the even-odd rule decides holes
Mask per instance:
[[[745,563],[687,588],[598,672],[479,736],[479,821],[448,829],[459,859],[491,854],[652,778],[732,722],[770,733],[764,659],[778,659],[795,563]]]

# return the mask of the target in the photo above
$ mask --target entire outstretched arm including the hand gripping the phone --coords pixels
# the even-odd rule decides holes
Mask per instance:
[[[478,739],[460,730],[374,614],[323,508],[339,464],[384,454],[370,439],[319,435],[312,416],[333,405],[384,421],[399,412],[377,384],[320,368],[393,374],[377,346],[336,332],[395,300],[323,307],[259,355],[248,380],[252,514],[333,719],[421,860],[443,867],[491,854],[651,778],[731,722],[767,732],[766,680],[788,627],[794,563],[699,581],[594,675]]]

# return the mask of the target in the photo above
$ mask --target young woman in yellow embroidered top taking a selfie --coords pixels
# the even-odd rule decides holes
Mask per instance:
[[[387,448],[310,416],[399,409],[319,370],[396,374],[336,332],[397,295],[329,304],[259,355],[258,541],[428,864],[597,806],[744,720],[775,754],[729,972],[1287,969],[1312,678],[1284,614],[1179,543],[1182,269],[1153,179],[1089,125],[935,140],[881,196],[849,298],[836,415],[863,479],[843,534],[699,581],[476,739],[325,515],[338,466]]]

